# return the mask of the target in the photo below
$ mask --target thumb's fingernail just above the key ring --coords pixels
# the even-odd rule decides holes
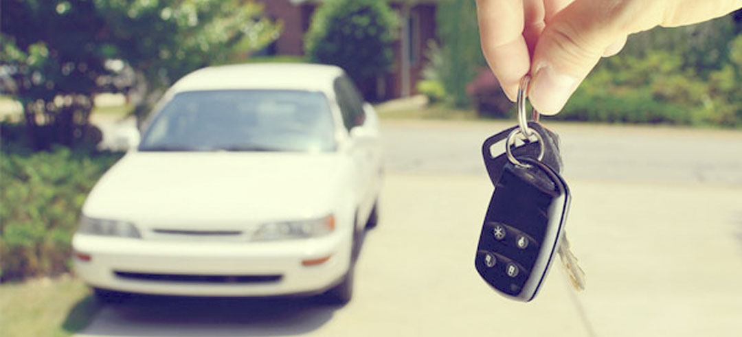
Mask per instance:
[[[556,115],[567,104],[577,84],[574,77],[559,74],[550,65],[543,65],[533,76],[528,98],[542,115]]]

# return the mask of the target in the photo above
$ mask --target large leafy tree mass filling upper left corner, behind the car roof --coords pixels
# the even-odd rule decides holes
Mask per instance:
[[[246,58],[280,31],[245,0],[2,0],[1,7],[0,88],[22,102],[36,149],[82,139],[96,93],[136,89],[143,114],[185,73]],[[115,81],[126,69],[134,81]]]

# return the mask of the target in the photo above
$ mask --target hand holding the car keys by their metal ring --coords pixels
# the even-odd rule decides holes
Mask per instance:
[[[482,50],[511,101],[520,79],[539,113],[554,115],[600,57],[632,33],[723,16],[742,0],[477,0]]]

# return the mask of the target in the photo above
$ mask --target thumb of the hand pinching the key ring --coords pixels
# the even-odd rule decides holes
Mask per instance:
[[[604,54],[628,33],[660,21],[652,2],[575,0],[547,22],[531,61],[528,96],[539,113],[554,115]],[[661,10],[661,9],[660,9]],[[657,18],[657,19],[654,19]],[[623,45],[623,44],[622,44]]]

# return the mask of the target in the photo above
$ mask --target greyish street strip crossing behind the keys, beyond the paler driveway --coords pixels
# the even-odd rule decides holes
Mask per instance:
[[[742,187],[741,131],[545,124],[561,135],[568,179]],[[387,121],[387,167],[391,172],[482,173],[482,141],[512,125]]]

